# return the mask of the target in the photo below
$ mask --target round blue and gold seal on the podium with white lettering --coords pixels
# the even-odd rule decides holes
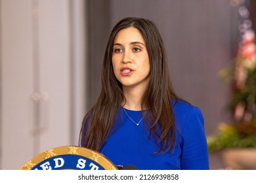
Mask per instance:
[[[104,155],[80,146],[61,146],[42,152],[28,161],[22,170],[117,170]]]

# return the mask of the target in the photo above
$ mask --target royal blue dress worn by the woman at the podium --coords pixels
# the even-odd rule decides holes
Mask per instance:
[[[173,103],[174,104],[174,103]],[[177,144],[173,154],[156,154],[158,147],[148,139],[141,111],[120,108],[117,127],[100,151],[115,165],[133,165],[140,170],[209,169],[203,115],[198,107],[183,101],[174,105]],[[132,118],[134,122],[127,116]]]

